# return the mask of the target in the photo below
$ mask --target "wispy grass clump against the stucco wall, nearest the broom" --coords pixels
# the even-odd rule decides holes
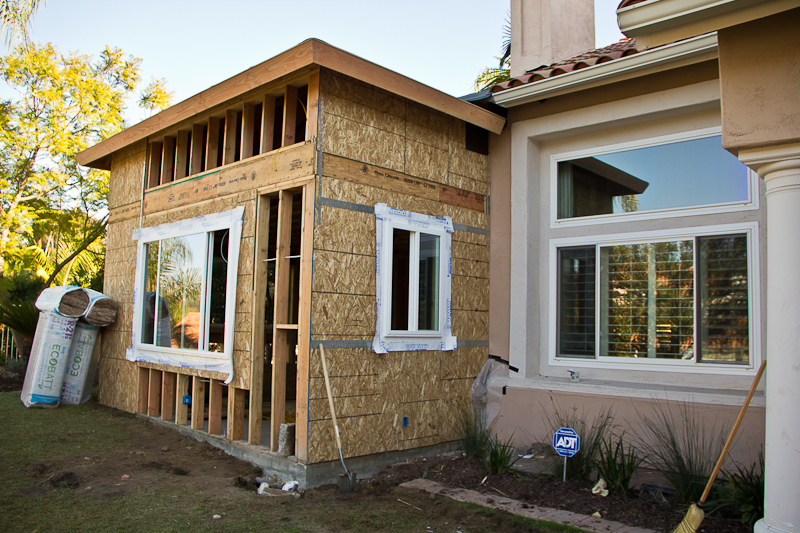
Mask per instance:
[[[725,446],[728,428],[717,429],[716,423],[704,426],[689,402],[656,403],[652,416],[638,414],[640,425],[633,433],[645,462],[669,481],[681,499],[698,501]]]

